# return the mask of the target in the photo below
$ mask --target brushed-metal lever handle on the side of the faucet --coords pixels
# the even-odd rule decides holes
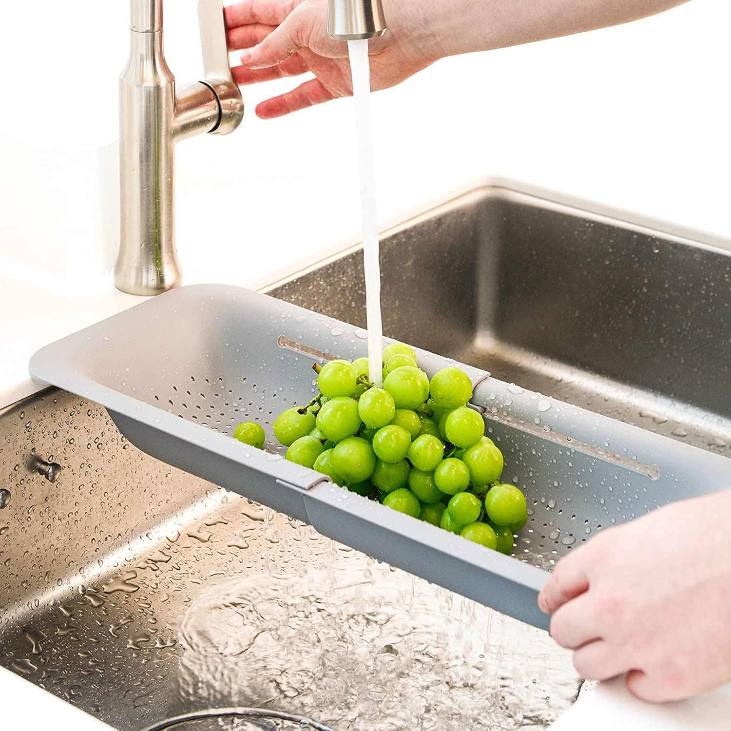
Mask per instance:
[[[198,22],[204,83],[213,89],[219,100],[219,124],[212,132],[216,135],[228,135],[241,124],[243,99],[231,74],[222,0],[198,0]]]

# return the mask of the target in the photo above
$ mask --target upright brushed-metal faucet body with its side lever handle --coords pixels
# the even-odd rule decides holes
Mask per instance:
[[[243,118],[229,66],[221,0],[199,0],[205,80],[176,88],[162,43],[162,0],[131,0],[129,62],[120,111],[121,238],[114,283],[156,295],[181,283],[175,251],[175,143],[227,135]]]

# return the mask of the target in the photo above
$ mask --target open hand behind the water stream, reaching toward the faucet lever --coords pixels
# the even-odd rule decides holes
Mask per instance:
[[[418,2],[387,7],[388,30],[369,42],[371,88],[385,89],[428,67],[440,52]],[[314,79],[257,106],[261,118],[352,95],[348,45],[327,35],[327,0],[243,0],[225,8],[232,69],[240,85],[312,72]]]

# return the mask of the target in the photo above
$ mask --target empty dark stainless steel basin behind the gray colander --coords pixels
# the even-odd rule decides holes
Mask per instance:
[[[268,291],[363,327],[360,256]],[[485,187],[391,232],[381,262],[388,336],[729,452],[729,251]]]

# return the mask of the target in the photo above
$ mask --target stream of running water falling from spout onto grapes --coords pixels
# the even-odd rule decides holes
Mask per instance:
[[[366,270],[366,317],[368,321],[368,377],[382,385],[381,352],[381,268],[379,264],[378,219],[376,216],[376,173],[371,124],[371,69],[368,41],[348,41],[355,102],[355,130],[360,167],[360,208],[363,216],[363,260]]]

